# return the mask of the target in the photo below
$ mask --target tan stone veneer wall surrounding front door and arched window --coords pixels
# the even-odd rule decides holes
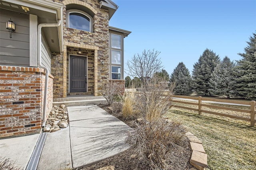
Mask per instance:
[[[54,1],[54,0],[52,0]],[[98,0],[60,0],[63,6],[63,44],[61,54],[52,54],[54,75],[54,98],[66,98],[68,94],[68,53],[81,49],[94,51],[94,96],[102,95],[102,87],[109,78],[109,29],[108,10],[101,9]],[[93,32],[68,28],[66,26],[66,6],[78,4],[94,13]],[[72,50],[70,50],[72,48]],[[70,50],[70,51],[69,51]],[[104,66],[100,63],[104,61]],[[88,64],[89,65],[89,64]],[[88,75],[88,77],[91,75]],[[91,80],[90,80],[91,81]],[[91,82],[90,82],[91,83]],[[91,85],[90,85],[91,87]],[[88,89],[89,92],[89,89]],[[92,91],[91,91],[92,92]]]

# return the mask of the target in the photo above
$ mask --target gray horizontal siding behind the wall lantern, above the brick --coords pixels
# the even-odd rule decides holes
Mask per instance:
[[[0,64],[29,66],[29,15],[4,9],[0,15]],[[12,38],[6,29],[10,18],[16,26]]]

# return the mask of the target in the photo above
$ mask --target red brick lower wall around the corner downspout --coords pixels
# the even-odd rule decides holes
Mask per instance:
[[[40,132],[44,78],[42,68],[0,66],[1,138]],[[52,78],[49,76],[47,114],[52,108]]]

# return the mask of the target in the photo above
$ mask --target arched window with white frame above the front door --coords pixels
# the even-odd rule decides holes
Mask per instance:
[[[92,17],[80,10],[68,10],[67,26],[69,28],[92,32]]]

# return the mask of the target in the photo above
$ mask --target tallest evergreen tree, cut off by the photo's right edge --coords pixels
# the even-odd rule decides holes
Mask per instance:
[[[240,96],[256,100],[256,34],[250,36],[245,53],[238,53],[242,59],[238,61],[237,92]]]

